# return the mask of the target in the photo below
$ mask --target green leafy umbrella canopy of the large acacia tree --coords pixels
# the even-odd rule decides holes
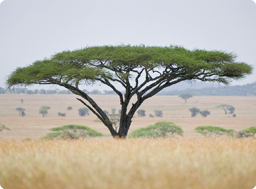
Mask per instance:
[[[7,78],[13,85],[32,85],[47,77],[62,76],[64,82],[85,80],[94,83],[95,78],[110,74],[100,67],[85,66],[91,61],[111,61],[113,67],[137,67],[146,64],[150,69],[172,64],[183,67],[187,75],[197,70],[209,70],[216,74],[215,81],[229,83],[252,73],[252,66],[236,62],[236,54],[224,51],[186,50],[182,46],[91,46],[74,51],[56,53],[49,59],[37,60],[31,66],[19,67]],[[80,64],[77,64],[79,61]],[[125,74],[124,74],[125,75]],[[119,75],[119,77],[124,77]],[[219,76],[220,75],[220,76]],[[115,77],[115,75],[111,75]]]

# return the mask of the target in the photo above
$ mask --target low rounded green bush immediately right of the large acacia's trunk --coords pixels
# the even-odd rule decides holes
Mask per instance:
[[[140,128],[131,132],[132,138],[158,138],[158,137],[174,137],[175,133],[182,136],[183,130],[172,122],[157,122],[146,128]]]

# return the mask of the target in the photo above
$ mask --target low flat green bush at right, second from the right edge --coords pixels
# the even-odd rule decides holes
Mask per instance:
[[[224,129],[221,127],[214,126],[200,126],[195,128],[195,131],[201,133],[206,138],[217,138],[222,135],[233,136],[235,131],[233,129]]]

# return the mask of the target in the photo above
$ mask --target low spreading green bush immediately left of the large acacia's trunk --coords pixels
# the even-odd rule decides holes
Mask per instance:
[[[64,125],[62,127],[52,128],[51,131],[54,133],[48,133],[44,139],[52,138],[71,138],[78,139],[80,137],[101,137],[104,136],[101,132],[97,132],[92,128],[82,126],[82,125]]]

